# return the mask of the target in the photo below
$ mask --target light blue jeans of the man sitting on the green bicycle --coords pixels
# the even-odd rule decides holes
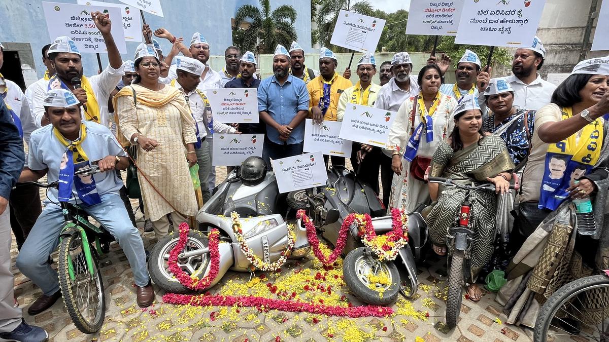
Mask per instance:
[[[144,243],[138,229],[129,220],[125,204],[119,195],[105,194],[101,198],[101,203],[83,207],[83,210],[103,223],[107,231],[114,236],[129,260],[135,284],[148,285],[150,277],[146,267]],[[32,227],[16,260],[21,273],[32,279],[32,282],[47,296],[59,290],[57,271],[51,268],[48,259],[57,248],[64,223],[62,208],[52,203],[46,206]]]

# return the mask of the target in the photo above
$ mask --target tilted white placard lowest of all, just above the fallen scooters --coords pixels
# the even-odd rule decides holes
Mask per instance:
[[[328,180],[326,164],[323,162],[321,152],[276,159],[271,161],[271,164],[280,194],[323,186]]]

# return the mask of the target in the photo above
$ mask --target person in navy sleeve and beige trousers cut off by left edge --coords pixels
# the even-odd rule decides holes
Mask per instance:
[[[9,195],[23,163],[23,138],[9,110],[0,98],[0,338],[16,341],[45,341],[44,329],[30,326],[23,320],[21,309],[15,307],[15,279],[10,262]]]

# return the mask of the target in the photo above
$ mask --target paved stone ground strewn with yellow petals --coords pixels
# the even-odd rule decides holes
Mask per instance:
[[[224,179],[218,168],[219,179]],[[138,226],[143,225],[141,214]],[[142,231],[143,233],[143,231]],[[143,233],[144,245],[149,249],[153,243],[153,233]],[[13,241],[11,256],[17,255]],[[312,259],[309,256],[309,259]],[[311,260],[301,261],[301,265],[290,261],[284,272],[275,279],[282,281],[287,274],[303,268],[315,273]],[[113,244],[111,252],[102,256],[107,313],[105,323],[99,333],[85,335],[74,327],[63,302],[58,301],[51,309],[37,316],[27,315],[27,307],[38,296],[40,289],[13,267],[15,274],[15,294],[19,307],[24,309],[24,318],[29,323],[38,324],[48,330],[51,341],[530,341],[532,331],[518,327],[498,324],[495,319],[505,320],[500,306],[494,301],[493,293],[485,293],[481,301],[474,303],[463,300],[460,323],[456,329],[446,332],[443,326],[445,312],[445,260],[434,260],[428,268],[419,270],[421,286],[412,301],[400,299],[393,305],[399,315],[390,318],[339,318],[333,316],[311,315],[308,313],[289,313],[270,310],[259,312],[255,308],[191,307],[164,304],[158,288],[153,307],[141,310],[135,303],[133,274],[119,246]],[[14,265],[14,263],[13,263]],[[286,270],[287,269],[287,270]],[[259,275],[259,274],[258,274]],[[266,274],[269,279],[275,274]],[[212,293],[230,290],[237,284],[247,283],[250,274],[228,273],[223,281],[213,288]],[[283,279],[284,281],[285,279]],[[242,286],[242,285],[241,285]],[[301,287],[301,284],[294,284]],[[334,288],[353,302],[361,302],[348,293],[343,286]],[[299,291],[301,293],[302,290]],[[425,313],[430,317],[424,319]],[[213,319],[212,317],[213,316]],[[422,318],[422,319],[421,319]],[[505,329],[505,334],[501,332]],[[418,339],[417,339],[418,340]],[[420,340],[419,340],[420,341]]]

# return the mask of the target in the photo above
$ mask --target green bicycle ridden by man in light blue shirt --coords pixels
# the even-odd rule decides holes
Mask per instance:
[[[81,169],[78,175],[94,175],[97,165]],[[58,187],[58,182],[24,182],[38,187]],[[100,273],[99,259],[109,250],[114,238],[104,225],[93,225],[88,215],[76,204],[60,202],[65,223],[59,236],[58,269],[59,287],[63,302],[74,325],[83,333],[98,332],[104,324],[106,305],[104,281]],[[94,218],[94,217],[93,217]]]

